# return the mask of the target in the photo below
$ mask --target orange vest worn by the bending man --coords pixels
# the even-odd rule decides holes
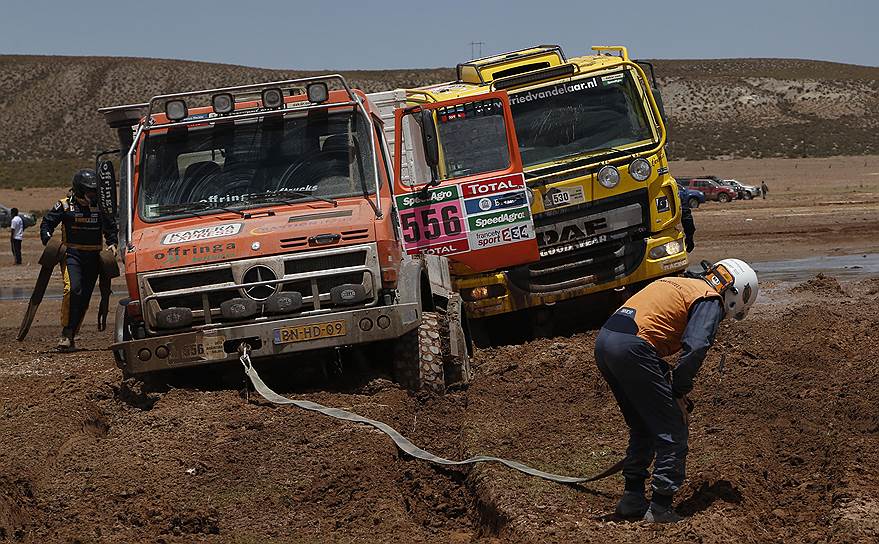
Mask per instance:
[[[667,357],[681,349],[690,308],[706,298],[721,296],[705,280],[669,277],[635,293],[623,308],[634,310],[634,315],[624,313],[637,323],[638,336],[650,342],[660,357]]]

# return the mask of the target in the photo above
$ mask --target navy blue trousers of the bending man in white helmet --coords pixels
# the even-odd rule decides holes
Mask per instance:
[[[607,329],[595,340],[595,362],[629,426],[627,486],[643,486],[655,457],[653,490],[673,495],[686,476],[688,429],[672,395],[668,363],[638,336]]]

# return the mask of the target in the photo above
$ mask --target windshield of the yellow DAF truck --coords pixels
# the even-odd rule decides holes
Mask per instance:
[[[524,166],[653,139],[629,71],[510,94]]]

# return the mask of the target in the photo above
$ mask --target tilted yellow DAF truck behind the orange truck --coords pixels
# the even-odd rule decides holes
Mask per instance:
[[[630,60],[625,47],[592,49],[569,59],[559,46],[531,47],[459,64],[456,81],[370,95],[388,119],[398,109],[506,93],[540,258],[488,272],[453,267],[474,332],[491,330],[497,320],[490,318],[504,314],[530,314],[539,322],[557,302],[637,288],[687,267],[653,67]],[[402,181],[411,178],[415,190],[417,180],[429,177],[415,175],[425,170],[421,139],[413,134],[418,123],[401,125],[398,118],[401,134],[393,122],[385,129],[391,149],[402,139]],[[462,131],[443,138],[440,153],[486,141]],[[498,202],[484,204],[491,209]]]

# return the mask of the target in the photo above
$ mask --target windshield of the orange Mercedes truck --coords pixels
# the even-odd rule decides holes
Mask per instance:
[[[353,111],[174,127],[146,138],[141,217],[368,195],[375,192],[371,153],[369,125]]]

